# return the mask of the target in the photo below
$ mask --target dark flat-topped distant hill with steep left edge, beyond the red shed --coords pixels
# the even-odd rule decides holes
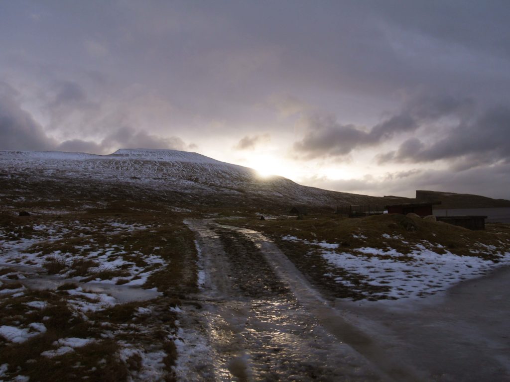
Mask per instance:
[[[510,200],[506,199],[492,199],[479,195],[455,194],[421,189],[416,190],[416,200],[427,202],[441,201],[441,205],[434,206],[436,209],[510,207]]]

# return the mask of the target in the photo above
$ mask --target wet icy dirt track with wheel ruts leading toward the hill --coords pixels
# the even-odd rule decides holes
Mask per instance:
[[[330,307],[259,233],[187,224],[207,270],[201,312],[189,319],[207,328],[210,348],[200,367],[190,362],[190,380],[421,379]]]

